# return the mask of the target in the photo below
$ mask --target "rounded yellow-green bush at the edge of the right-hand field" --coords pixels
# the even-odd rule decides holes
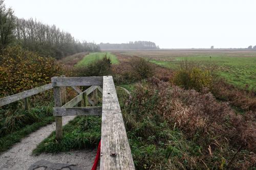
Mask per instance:
[[[185,89],[202,91],[205,87],[212,90],[215,80],[212,66],[200,66],[195,62],[183,61],[174,75],[173,83]]]

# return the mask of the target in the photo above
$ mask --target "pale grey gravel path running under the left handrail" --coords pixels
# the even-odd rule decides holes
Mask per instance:
[[[66,125],[69,120],[73,118],[74,116],[63,117],[62,124]],[[41,154],[39,156],[31,155],[33,149],[36,148],[36,145],[48,137],[54,130],[55,123],[42,127],[31,133],[19,143],[16,143],[9,151],[0,155],[0,169],[28,169],[32,164],[41,160],[46,160],[45,162],[50,161],[52,163],[74,164],[77,169],[91,169],[96,155],[96,149],[59,154]]]

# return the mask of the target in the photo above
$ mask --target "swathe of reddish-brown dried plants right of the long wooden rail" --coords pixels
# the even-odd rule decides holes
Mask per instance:
[[[206,145],[217,140],[256,152],[255,112],[236,114],[228,103],[218,102],[210,92],[200,93],[177,86],[168,88],[168,83],[149,79],[148,90],[159,91],[161,105],[157,110],[170,122],[176,123],[189,138],[200,134]],[[171,100],[168,100],[168,99]]]

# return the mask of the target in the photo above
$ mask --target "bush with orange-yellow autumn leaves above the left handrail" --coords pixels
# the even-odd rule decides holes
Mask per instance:
[[[7,47],[0,55],[0,98],[48,84],[60,72],[53,58],[40,57],[20,46]]]

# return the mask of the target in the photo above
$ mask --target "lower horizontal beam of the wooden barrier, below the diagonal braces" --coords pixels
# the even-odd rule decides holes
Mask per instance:
[[[101,115],[102,107],[54,107],[54,116]]]

